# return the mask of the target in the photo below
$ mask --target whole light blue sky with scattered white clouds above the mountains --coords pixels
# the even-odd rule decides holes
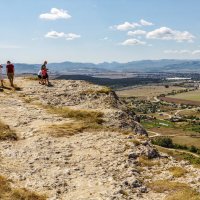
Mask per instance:
[[[0,0],[0,62],[199,59],[199,0]]]

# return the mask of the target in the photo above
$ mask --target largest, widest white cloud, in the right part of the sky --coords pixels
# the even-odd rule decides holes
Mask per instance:
[[[178,42],[192,42],[195,38],[195,36],[189,33],[188,31],[181,32],[177,30],[172,30],[167,27],[161,27],[159,29],[151,31],[147,33],[146,37],[149,39],[176,40]]]

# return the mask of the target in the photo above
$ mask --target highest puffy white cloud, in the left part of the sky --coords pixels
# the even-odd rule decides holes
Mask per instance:
[[[52,8],[50,13],[44,13],[40,15],[40,19],[45,20],[57,20],[57,19],[69,19],[71,15],[66,10]]]

